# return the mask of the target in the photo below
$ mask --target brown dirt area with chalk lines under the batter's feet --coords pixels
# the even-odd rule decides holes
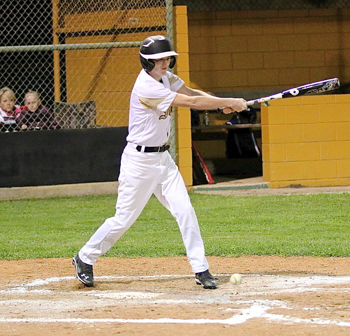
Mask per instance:
[[[186,257],[100,258],[92,288],[69,258],[2,260],[0,335],[350,334],[349,258],[208,261],[215,290],[196,285]]]

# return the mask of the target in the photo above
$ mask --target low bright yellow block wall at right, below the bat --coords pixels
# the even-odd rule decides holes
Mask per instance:
[[[272,100],[261,107],[269,188],[350,185],[350,94]]]

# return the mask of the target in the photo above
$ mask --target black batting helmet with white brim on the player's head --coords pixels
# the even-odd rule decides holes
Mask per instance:
[[[172,44],[162,35],[149,36],[141,44],[140,48],[140,61],[142,68],[147,72],[150,72],[154,68],[153,59],[163,58],[170,56],[172,59],[169,64],[169,68],[174,68],[177,54],[172,47]]]

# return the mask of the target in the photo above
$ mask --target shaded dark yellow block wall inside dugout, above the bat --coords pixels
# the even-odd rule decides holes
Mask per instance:
[[[279,92],[350,81],[349,8],[191,12],[188,31],[194,88]]]

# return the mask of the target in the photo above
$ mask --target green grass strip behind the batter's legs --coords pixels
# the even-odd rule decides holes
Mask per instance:
[[[350,256],[350,195],[190,194],[207,255]],[[71,257],[107,217],[116,196],[0,201],[0,259]],[[152,197],[105,256],[185,255],[170,213]]]

